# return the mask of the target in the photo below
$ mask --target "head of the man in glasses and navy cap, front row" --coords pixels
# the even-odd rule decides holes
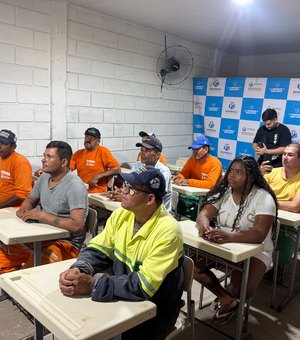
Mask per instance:
[[[150,166],[143,166],[130,174],[119,173],[123,181],[122,207],[133,211],[154,209],[162,203],[166,194],[163,174]]]

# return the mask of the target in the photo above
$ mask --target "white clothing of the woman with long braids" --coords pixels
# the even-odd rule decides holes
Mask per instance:
[[[252,229],[255,216],[257,215],[276,216],[274,199],[262,188],[253,186],[244,204],[244,210],[236,225],[235,231]],[[219,201],[213,203],[213,206],[218,209],[217,222],[221,226],[221,229],[226,232],[231,232],[233,221],[239,210],[239,205],[233,200],[231,188],[228,188],[223,197]],[[268,235],[263,242],[264,251],[255,256],[265,263],[267,269],[271,266],[274,249],[271,235],[272,228],[270,228]]]

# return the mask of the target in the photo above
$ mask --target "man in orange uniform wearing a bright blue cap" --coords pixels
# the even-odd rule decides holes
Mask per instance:
[[[222,176],[222,163],[209,154],[209,140],[199,136],[188,147],[193,150],[193,156],[185,163],[183,169],[173,181],[177,185],[211,189]]]

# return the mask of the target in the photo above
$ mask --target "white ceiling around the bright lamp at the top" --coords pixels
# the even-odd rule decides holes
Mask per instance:
[[[67,0],[235,55],[300,52],[300,0]]]

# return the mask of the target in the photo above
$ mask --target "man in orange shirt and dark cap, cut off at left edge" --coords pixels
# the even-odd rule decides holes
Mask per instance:
[[[0,131],[0,209],[21,205],[32,188],[31,165],[16,142],[12,131]]]

